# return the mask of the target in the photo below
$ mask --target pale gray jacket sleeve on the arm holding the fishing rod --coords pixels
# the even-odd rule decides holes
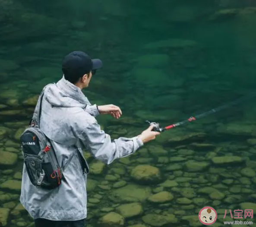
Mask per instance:
[[[79,125],[80,132],[77,135],[80,142],[96,159],[106,164],[111,164],[115,159],[133,154],[143,145],[138,136],[133,138],[120,137],[111,142],[111,137],[101,130],[94,117],[87,118],[81,125]]]

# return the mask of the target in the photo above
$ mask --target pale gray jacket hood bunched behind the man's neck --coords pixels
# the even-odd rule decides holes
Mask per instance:
[[[55,107],[82,107],[91,105],[81,89],[67,81],[64,76],[44,91],[46,100]]]

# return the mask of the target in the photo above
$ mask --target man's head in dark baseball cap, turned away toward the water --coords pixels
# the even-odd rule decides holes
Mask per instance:
[[[82,89],[88,87],[92,74],[101,67],[101,60],[91,59],[82,51],[73,51],[64,57],[62,72],[66,80]]]

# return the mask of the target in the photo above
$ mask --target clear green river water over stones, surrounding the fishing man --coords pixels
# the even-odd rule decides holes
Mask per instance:
[[[92,103],[113,103],[123,110],[120,120],[98,118],[113,139],[136,136],[147,127],[145,120],[165,126],[254,91],[253,7],[256,3],[250,0],[0,1],[3,226],[32,226],[18,200],[22,170],[18,139],[33,111],[33,102],[30,107],[23,102],[61,78],[65,54],[84,50],[103,60],[104,68],[92,78],[85,95]],[[164,132],[100,174],[92,171],[88,226],[98,226],[102,216],[114,211],[125,218],[123,226],[196,227],[202,225],[198,213],[205,206],[218,213],[213,226],[253,221],[244,216],[235,219],[234,210],[256,210],[255,114],[254,99],[248,100]],[[95,160],[85,154],[92,168]],[[18,162],[12,163],[17,155]],[[158,168],[161,179],[155,173],[156,181],[136,182],[133,169],[142,164],[152,166],[152,171]],[[129,196],[131,191],[134,195]],[[150,197],[162,191],[157,198]],[[130,202],[140,204],[120,207]],[[121,223],[122,217],[118,216]]]

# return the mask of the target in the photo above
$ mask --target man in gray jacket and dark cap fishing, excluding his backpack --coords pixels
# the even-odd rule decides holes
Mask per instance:
[[[101,67],[101,60],[91,60],[84,52],[74,51],[63,60],[63,78],[45,87],[40,128],[52,140],[62,166],[71,154],[74,155],[63,172],[61,185],[51,190],[32,185],[23,167],[20,201],[34,218],[36,227],[85,226],[88,164],[82,148],[90,151],[96,159],[111,164],[117,158],[133,154],[159,134],[150,126],[139,136],[111,142],[111,137],[100,129],[95,117],[111,114],[118,119],[122,114],[120,108],[112,104],[91,105],[81,91],[88,87],[92,74]]]

